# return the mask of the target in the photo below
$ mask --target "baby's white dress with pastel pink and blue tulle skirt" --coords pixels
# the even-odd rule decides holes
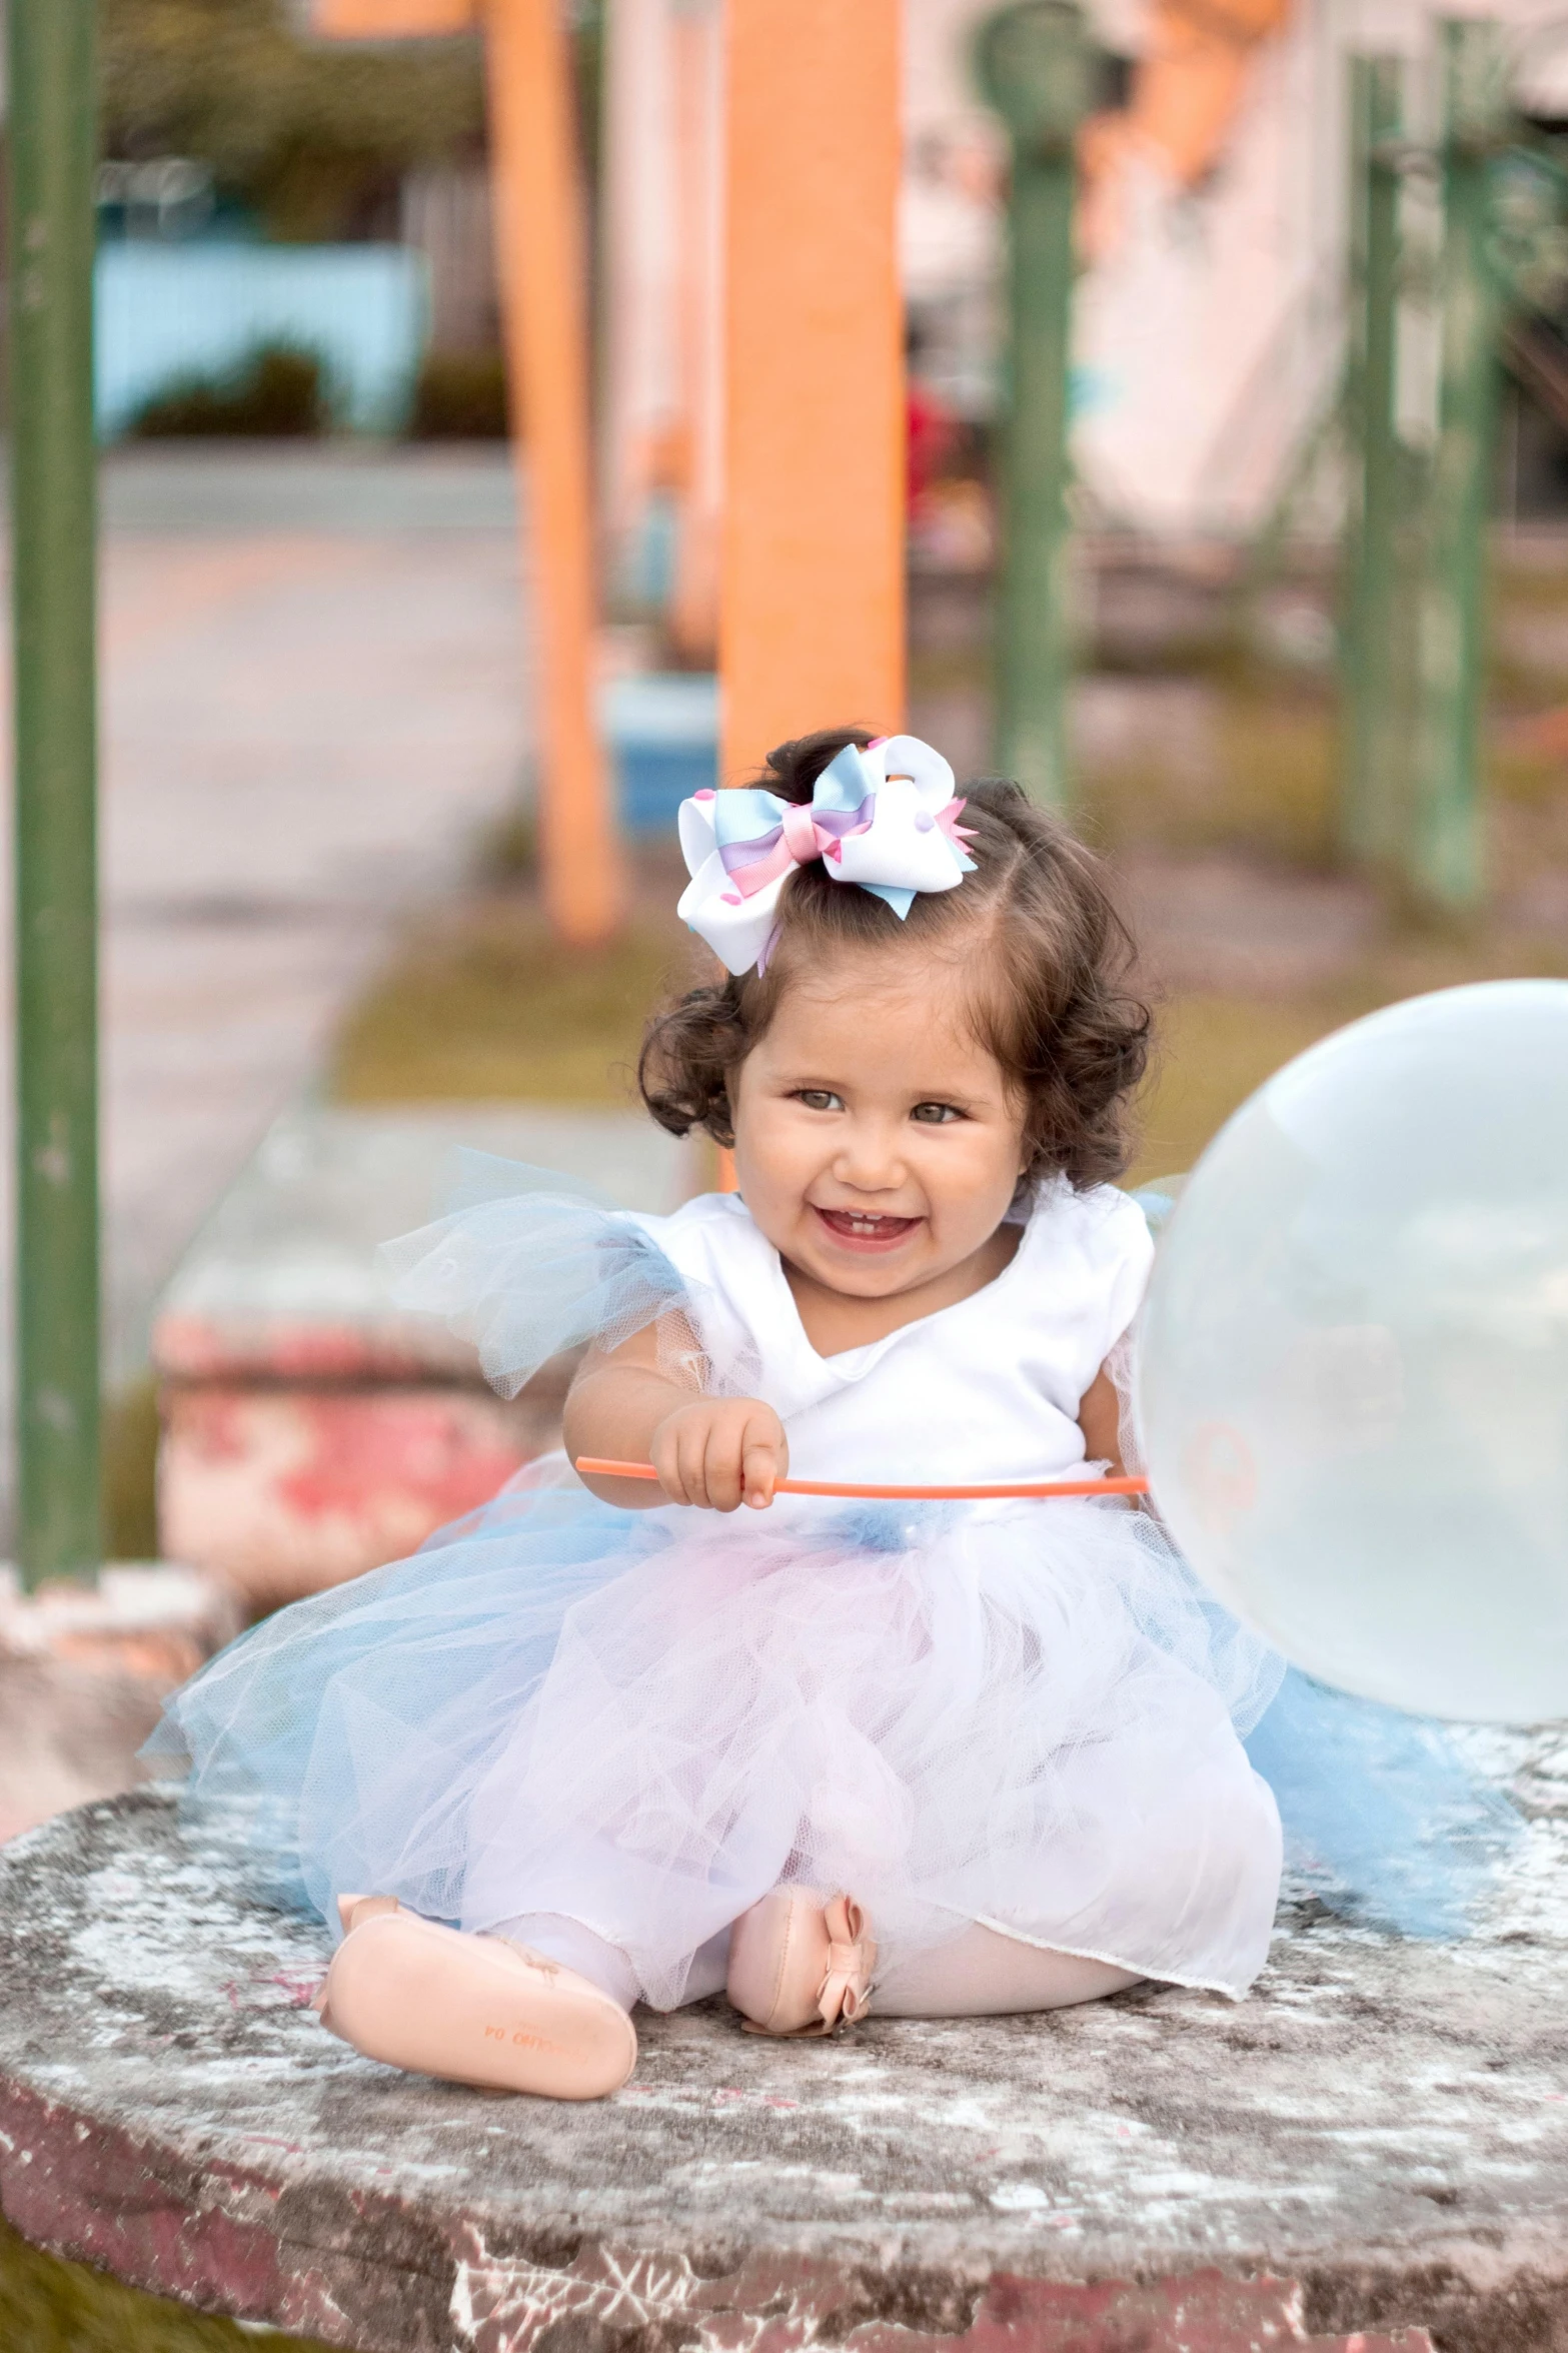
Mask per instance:
[[[501,1386],[658,1322],[689,1377],[780,1412],[799,1478],[1077,1471],[1152,1257],[1131,1198],[1058,1181],[973,1299],[820,1358],[733,1195],[630,1217],[494,1167],[475,1193],[395,1245],[400,1294]],[[785,1880],[853,1894],[886,1967],[978,1920],[1239,1995],[1281,1871],[1239,1734],[1279,1673],[1112,1497],[628,1513],[555,1457],[244,1635],[165,1746],[270,1800],[324,1918],[343,1889],[559,1915],[656,2007],[715,1991]]]

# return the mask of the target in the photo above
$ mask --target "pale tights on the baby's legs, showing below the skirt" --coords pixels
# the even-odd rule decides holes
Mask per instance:
[[[576,1969],[623,2009],[637,2000],[637,1972],[625,1953],[595,1937],[578,1920],[564,1920],[559,1913],[527,1913],[520,1920],[508,1920],[496,1934],[527,1944],[548,1960],[559,1960],[564,1969]],[[726,1937],[715,1937],[698,1953],[686,1991],[689,2002],[701,2002],[724,1986],[726,1941]],[[917,1953],[914,1960],[879,1977],[870,2009],[872,2017],[882,2019],[992,2019],[1020,2009],[1070,2009],[1074,2002],[1098,2002],[1103,1995],[1135,1984],[1138,1977],[1131,1969],[1117,1969],[1107,1960],[1053,1953],[976,1922],[952,1944],[938,1944],[933,1953]]]

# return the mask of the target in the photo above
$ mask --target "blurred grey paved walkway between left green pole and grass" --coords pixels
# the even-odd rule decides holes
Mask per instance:
[[[517,791],[527,678],[503,452],[148,449],[103,475],[106,1299],[125,1377],[155,1289],[390,925]],[[9,878],[2,906],[9,929]],[[9,936],[0,965],[9,991]],[[0,1033],[9,1056],[9,1002]],[[7,1061],[7,1195],[9,1099]],[[9,1454],[9,1400],[5,1424]]]

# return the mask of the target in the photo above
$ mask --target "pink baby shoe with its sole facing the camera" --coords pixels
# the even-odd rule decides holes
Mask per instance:
[[[315,2007],[367,2059],[545,2099],[604,2099],[637,2066],[625,2009],[576,1969],[421,1920],[395,1897],[343,1897],[339,1913],[348,1934]]]

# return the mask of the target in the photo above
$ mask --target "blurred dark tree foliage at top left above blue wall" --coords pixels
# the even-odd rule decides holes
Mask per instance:
[[[397,181],[475,155],[475,40],[313,42],[292,0],[103,0],[103,153],[197,155],[282,240],[395,233]]]

